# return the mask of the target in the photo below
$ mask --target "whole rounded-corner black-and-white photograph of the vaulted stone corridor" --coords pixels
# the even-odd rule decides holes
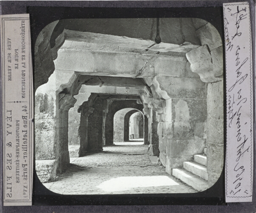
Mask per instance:
[[[222,49],[197,18],[50,23],[35,43],[38,182],[62,194],[212,187],[224,158]]]

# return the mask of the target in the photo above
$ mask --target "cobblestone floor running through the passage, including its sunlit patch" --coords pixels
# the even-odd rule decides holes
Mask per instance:
[[[194,189],[152,164],[143,142],[115,143],[103,152],[70,158],[71,167],[44,183],[60,194],[194,193]]]

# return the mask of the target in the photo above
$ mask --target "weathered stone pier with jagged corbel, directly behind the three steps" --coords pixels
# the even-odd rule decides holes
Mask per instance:
[[[151,136],[158,137],[158,141],[155,146],[151,145],[151,154],[156,155],[157,149],[153,149],[158,144],[160,161],[170,174],[173,168],[183,167],[183,161],[203,153],[205,147],[207,85],[189,66],[182,73],[180,78],[155,76],[147,79],[150,91],[146,91],[147,96],[143,98],[156,112],[157,134]]]

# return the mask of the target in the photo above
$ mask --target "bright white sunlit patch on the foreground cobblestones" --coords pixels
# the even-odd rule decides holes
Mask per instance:
[[[104,181],[98,186],[105,192],[126,191],[139,187],[160,187],[179,185],[168,176],[135,176],[135,177],[118,177]]]

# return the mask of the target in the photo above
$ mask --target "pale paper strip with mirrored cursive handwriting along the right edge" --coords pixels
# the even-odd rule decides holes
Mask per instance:
[[[224,3],[227,90],[226,202],[252,201],[253,64],[247,2]]]

